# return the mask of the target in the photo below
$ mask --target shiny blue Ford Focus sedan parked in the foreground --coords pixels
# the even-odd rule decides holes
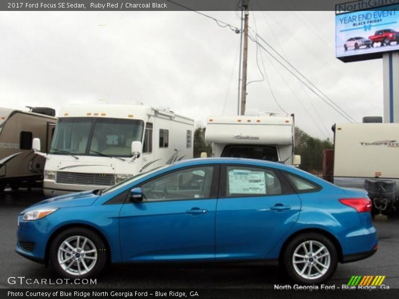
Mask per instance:
[[[16,251],[61,276],[111,263],[279,261],[319,284],[377,250],[366,191],[251,159],[192,159],[105,190],[41,201],[18,216]]]

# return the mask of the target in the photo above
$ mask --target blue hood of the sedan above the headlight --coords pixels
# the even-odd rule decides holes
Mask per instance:
[[[89,206],[92,205],[98,197],[99,196],[94,194],[93,191],[69,193],[39,201],[23,210],[22,213],[36,208]]]

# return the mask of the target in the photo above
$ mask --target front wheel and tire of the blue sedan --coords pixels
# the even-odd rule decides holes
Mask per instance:
[[[87,253],[82,250],[83,245]],[[85,256],[82,257],[82,254]],[[50,245],[49,260],[59,276],[83,279],[100,274],[107,262],[107,252],[103,240],[95,232],[77,227],[67,229],[54,238]]]

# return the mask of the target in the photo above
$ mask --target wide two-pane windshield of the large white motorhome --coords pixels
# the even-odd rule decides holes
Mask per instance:
[[[112,118],[58,119],[51,154],[132,156],[133,141],[142,141],[144,122]]]

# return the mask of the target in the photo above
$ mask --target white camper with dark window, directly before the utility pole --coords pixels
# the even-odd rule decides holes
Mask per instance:
[[[277,113],[209,117],[205,140],[215,157],[242,157],[300,164],[294,156],[294,117]]]

